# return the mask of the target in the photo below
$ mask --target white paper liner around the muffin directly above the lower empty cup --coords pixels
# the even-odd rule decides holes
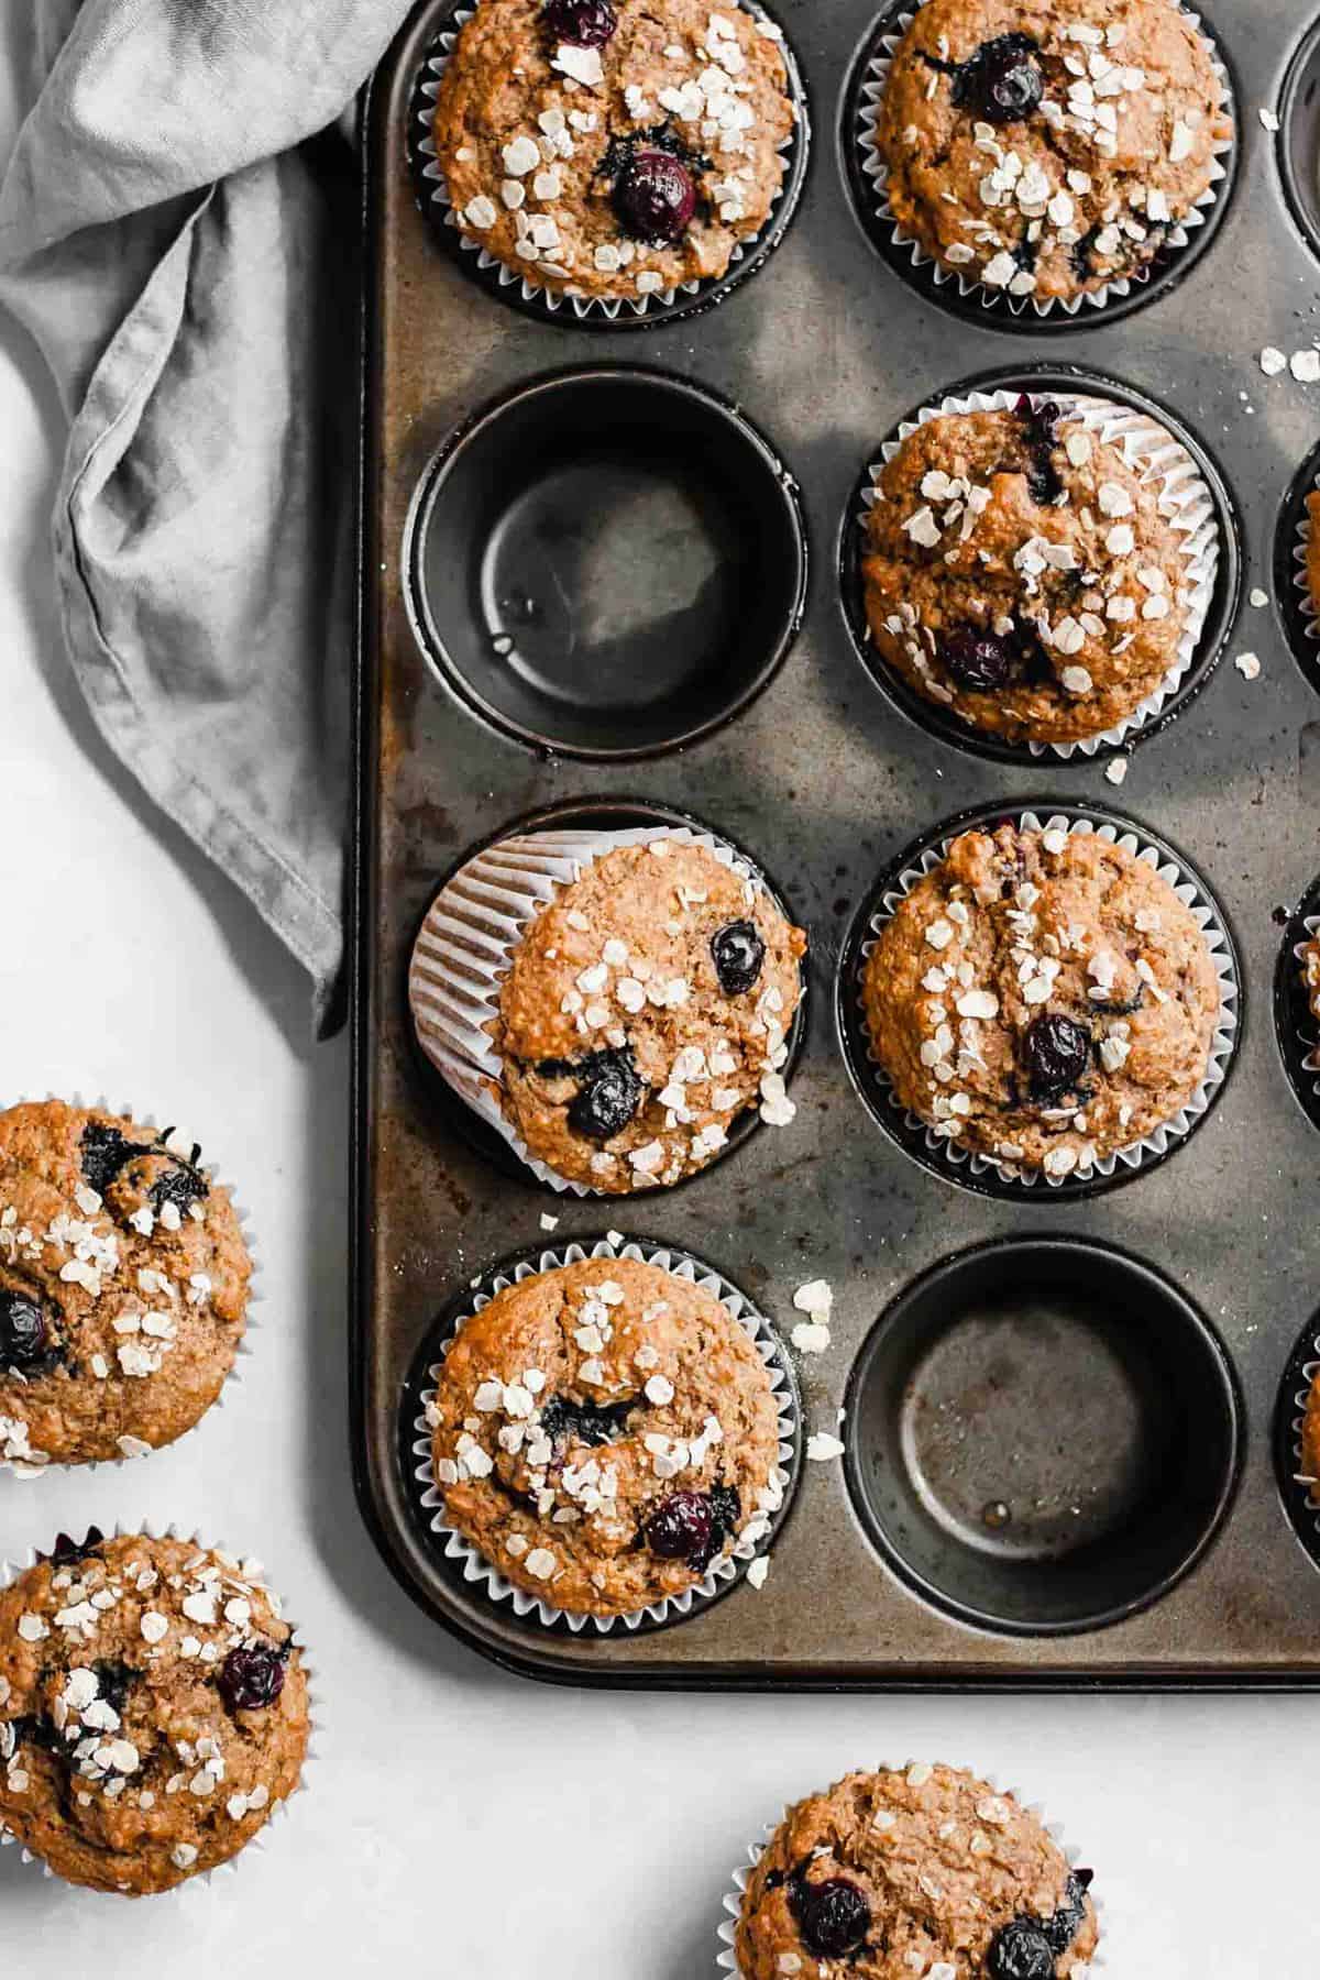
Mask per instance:
[[[1114,1154],[1100,1156],[1088,1168],[1083,1168],[1079,1164],[1067,1176],[1047,1176],[1045,1170],[1039,1168],[1017,1168],[1011,1162],[997,1162],[993,1160],[993,1156],[978,1154],[970,1148],[960,1148],[958,1142],[948,1140],[944,1135],[936,1135],[934,1129],[918,1115],[910,1113],[895,1093],[885,1067],[875,1057],[875,1047],[871,1045],[871,1032],[867,1020],[865,1016],[859,1014],[861,1036],[867,1041],[867,1063],[873,1069],[875,1087],[881,1099],[895,1115],[902,1119],[906,1129],[924,1135],[926,1148],[930,1150],[930,1154],[938,1156],[942,1164],[948,1166],[950,1176],[958,1178],[960,1172],[978,1178],[997,1176],[1001,1182],[1023,1190],[1033,1190],[1039,1186],[1045,1186],[1047,1190],[1057,1190],[1063,1188],[1065,1184],[1094,1182],[1096,1178],[1114,1176],[1120,1164],[1124,1168],[1138,1170],[1142,1162],[1164,1156],[1179,1140],[1185,1140],[1195,1123],[1209,1109],[1211,1101],[1215,1099],[1215,1093],[1227,1079],[1229,1065],[1233,1063],[1233,1051],[1237,1049],[1235,1006],[1239,996],[1239,984],[1233,962],[1233,948],[1215,907],[1209,905],[1209,895],[1203,891],[1199,881],[1193,881],[1187,873],[1183,873],[1183,869],[1168,853],[1164,853],[1158,845],[1152,845],[1148,840],[1144,840],[1136,826],[1130,830],[1120,830],[1118,826],[1098,824],[1096,820],[1086,818],[1081,812],[1073,814],[1053,812],[1045,820],[1041,820],[1035,812],[1021,812],[1015,816],[1013,824],[1017,826],[1019,832],[1067,832],[1067,834],[1094,832],[1102,840],[1108,840],[1110,845],[1120,845],[1124,851],[1134,853],[1146,865],[1154,867],[1160,879],[1174,889],[1178,899],[1183,903],[1187,913],[1201,929],[1201,935],[1205,937],[1205,946],[1209,950],[1209,960],[1213,962],[1215,974],[1219,978],[1219,1018],[1215,1022],[1215,1034],[1209,1043],[1205,1075],[1197,1091],[1187,1101],[1187,1105],[1181,1107],[1170,1121],[1162,1121],[1160,1127],[1156,1127],[1150,1135],[1142,1137],[1142,1140],[1134,1140],[1126,1148],[1116,1148]],[[889,921],[893,921],[898,903],[912,891],[912,887],[920,879],[924,879],[926,873],[932,873],[940,865],[954,840],[962,838],[964,832],[976,832],[976,830],[984,828],[978,828],[976,822],[970,822],[966,826],[960,826],[944,834],[944,838],[940,838],[938,843],[928,845],[922,851],[920,861],[916,865],[904,867],[898,879],[885,889],[883,903],[869,921],[871,939],[865,940],[861,946],[863,956],[871,954],[881,929]]]

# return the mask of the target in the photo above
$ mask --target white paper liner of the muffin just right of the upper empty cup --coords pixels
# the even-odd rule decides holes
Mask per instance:
[[[1181,539],[1179,550],[1185,564],[1185,624],[1178,642],[1178,657],[1160,685],[1138,701],[1138,705],[1124,715],[1120,723],[1114,723],[1112,729],[1098,731],[1092,737],[1083,737],[1077,742],[1027,742],[1027,752],[1031,756],[1051,756],[1067,762],[1071,756],[1094,756],[1100,748],[1118,746],[1126,737],[1134,735],[1134,731],[1140,731],[1154,721],[1160,709],[1164,709],[1164,705],[1187,679],[1191,667],[1195,665],[1201,634],[1205,632],[1205,618],[1215,596],[1215,578],[1219,574],[1219,519],[1215,515],[1213,495],[1209,493],[1191,453],[1179,440],[1174,438],[1174,434],[1170,434],[1166,426],[1152,420],[1150,414],[1138,412],[1134,406],[1120,406],[1114,400],[1098,398],[1088,392],[1001,390],[970,392],[966,398],[950,394],[948,398],[938,400],[938,404],[922,406],[916,418],[904,420],[896,436],[881,447],[881,459],[869,463],[867,471],[871,481],[863,491],[861,513],[855,527],[865,531],[867,513],[875,507],[875,483],[910,434],[928,426],[930,420],[940,420],[948,414],[1011,412],[1019,398],[1029,398],[1033,406],[1043,406],[1047,402],[1057,404],[1065,418],[1073,416],[1081,420],[1086,432],[1094,434],[1106,446],[1116,447],[1128,467],[1142,481],[1164,483],[1158,497],[1160,515]],[[865,636],[867,642],[875,645],[869,626],[865,626]],[[883,663],[889,667],[889,661]],[[896,669],[891,671],[896,673]],[[904,681],[904,685],[910,683]],[[930,699],[922,695],[920,689],[910,691],[922,703]],[[940,707],[940,703],[934,701],[930,705]],[[1084,705],[1084,701],[1081,705]],[[962,721],[948,709],[944,713],[950,721],[956,721],[968,737],[984,735],[995,741],[991,731],[978,729],[976,723]]]

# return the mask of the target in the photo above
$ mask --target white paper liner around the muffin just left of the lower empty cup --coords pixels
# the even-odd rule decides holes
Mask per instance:
[[[554,1271],[558,1265],[578,1265],[584,1259],[635,1259],[645,1265],[657,1265],[675,1279],[685,1279],[691,1285],[701,1287],[703,1293],[712,1293],[714,1299],[728,1311],[730,1319],[738,1323],[744,1335],[756,1346],[756,1352],[766,1364],[770,1374],[770,1388],[780,1410],[780,1461],[774,1471],[774,1483],[784,1499],[788,1499],[794,1467],[794,1443],[798,1436],[798,1402],[792,1384],[786,1374],[784,1348],[776,1338],[770,1323],[758,1309],[750,1303],[746,1293],[740,1293],[736,1285],[722,1277],[722,1273],[712,1271],[708,1265],[699,1265],[695,1259],[685,1257],[671,1245],[653,1245],[637,1239],[617,1241],[615,1238],[600,1238],[592,1243],[590,1251],[580,1243],[570,1243],[562,1251],[542,1251],[536,1263],[520,1263],[515,1267],[513,1277],[497,1273],[493,1279],[483,1281],[483,1291],[473,1295],[473,1313],[481,1313],[491,1305],[495,1293],[503,1293],[509,1285],[519,1285],[522,1279],[532,1279],[542,1271]],[[485,1285],[491,1291],[485,1291]],[[441,1366],[449,1348],[453,1346],[459,1331],[465,1327],[471,1315],[463,1315],[457,1321],[453,1333],[439,1348],[439,1360],[427,1370],[429,1382],[439,1380]],[[691,1612],[703,1604],[710,1602],[722,1588],[736,1580],[746,1568],[748,1560],[754,1560],[758,1552],[770,1552],[774,1544],[774,1527],[778,1525],[780,1513],[772,1513],[772,1531],[762,1534],[760,1540],[738,1538],[732,1548],[720,1554],[718,1560],[710,1564],[707,1574],[695,1588],[685,1588],[683,1594],[665,1596],[661,1602],[651,1602],[647,1608],[629,1610],[623,1616],[590,1616],[572,1610],[560,1610],[544,1596],[532,1596],[522,1588],[515,1588],[507,1576],[499,1572],[483,1554],[477,1552],[471,1540],[457,1533],[445,1521],[445,1495],[443,1487],[435,1481],[433,1457],[431,1457],[431,1430],[425,1420],[425,1406],[435,1396],[433,1386],[422,1392],[422,1414],[414,1418],[414,1430],[418,1437],[414,1441],[414,1457],[418,1467],[414,1477],[422,1487],[422,1507],[429,1515],[429,1529],[441,1534],[445,1540],[445,1558],[463,1562],[463,1580],[483,1586],[493,1602],[511,1602],[513,1612],[519,1622],[534,1620],[552,1628],[564,1622],[574,1634],[580,1634],[588,1624],[598,1635],[608,1635],[612,1630],[639,1630],[641,1624],[663,1624],[675,1622],[681,1616],[691,1616]]]

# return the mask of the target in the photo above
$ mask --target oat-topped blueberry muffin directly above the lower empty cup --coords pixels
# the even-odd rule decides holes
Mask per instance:
[[[1094,832],[966,832],[883,927],[875,1057],[934,1133],[1063,1178],[1172,1121],[1205,1077],[1219,978],[1152,865]]]

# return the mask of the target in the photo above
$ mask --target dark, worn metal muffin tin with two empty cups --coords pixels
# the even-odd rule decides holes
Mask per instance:
[[[877,253],[849,184],[877,10],[784,0],[815,115],[798,214],[754,283],[639,346],[635,325],[509,307],[418,210],[410,109],[443,18],[414,12],[366,117],[350,1360],[386,1560],[473,1647],[582,1685],[1316,1683],[1320,1572],[1278,1426],[1302,1327],[1314,1358],[1320,1142],[1269,1002],[1320,867],[1320,675],[1282,580],[1269,606],[1245,594],[1290,568],[1288,495],[1316,471],[1320,400],[1257,360],[1320,331],[1320,24],[1221,0],[1241,131],[1211,222],[1122,309],[1055,323],[936,307]],[[1284,107],[1290,71],[1274,137],[1257,111]],[[946,392],[1051,378],[1166,412],[1223,509],[1197,691],[1120,758],[1122,792],[1104,756],[950,746],[879,691],[845,618],[839,546],[885,436]],[[689,414],[708,447],[675,446]],[[1245,649],[1255,681],[1221,661]],[[798,1119],[675,1192],[540,1188],[437,1105],[412,1043],[408,954],[445,871],[558,808],[697,816],[811,931]],[[1122,1190],[930,1174],[871,1119],[837,1036],[845,935],[904,847],[1027,808],[1132,820],[1203,877],[1237,954],[1231,1079]],[[416,1515],[410,1374],[511,1249],[612,1228],[710,1259],[782,1338],[794,1289],[827,1279],[833,1340],[798,1374],[803,1428],[845,1455],[801,1465],[764,1588],[635,1634],[550,1632],[465,1584]]]

